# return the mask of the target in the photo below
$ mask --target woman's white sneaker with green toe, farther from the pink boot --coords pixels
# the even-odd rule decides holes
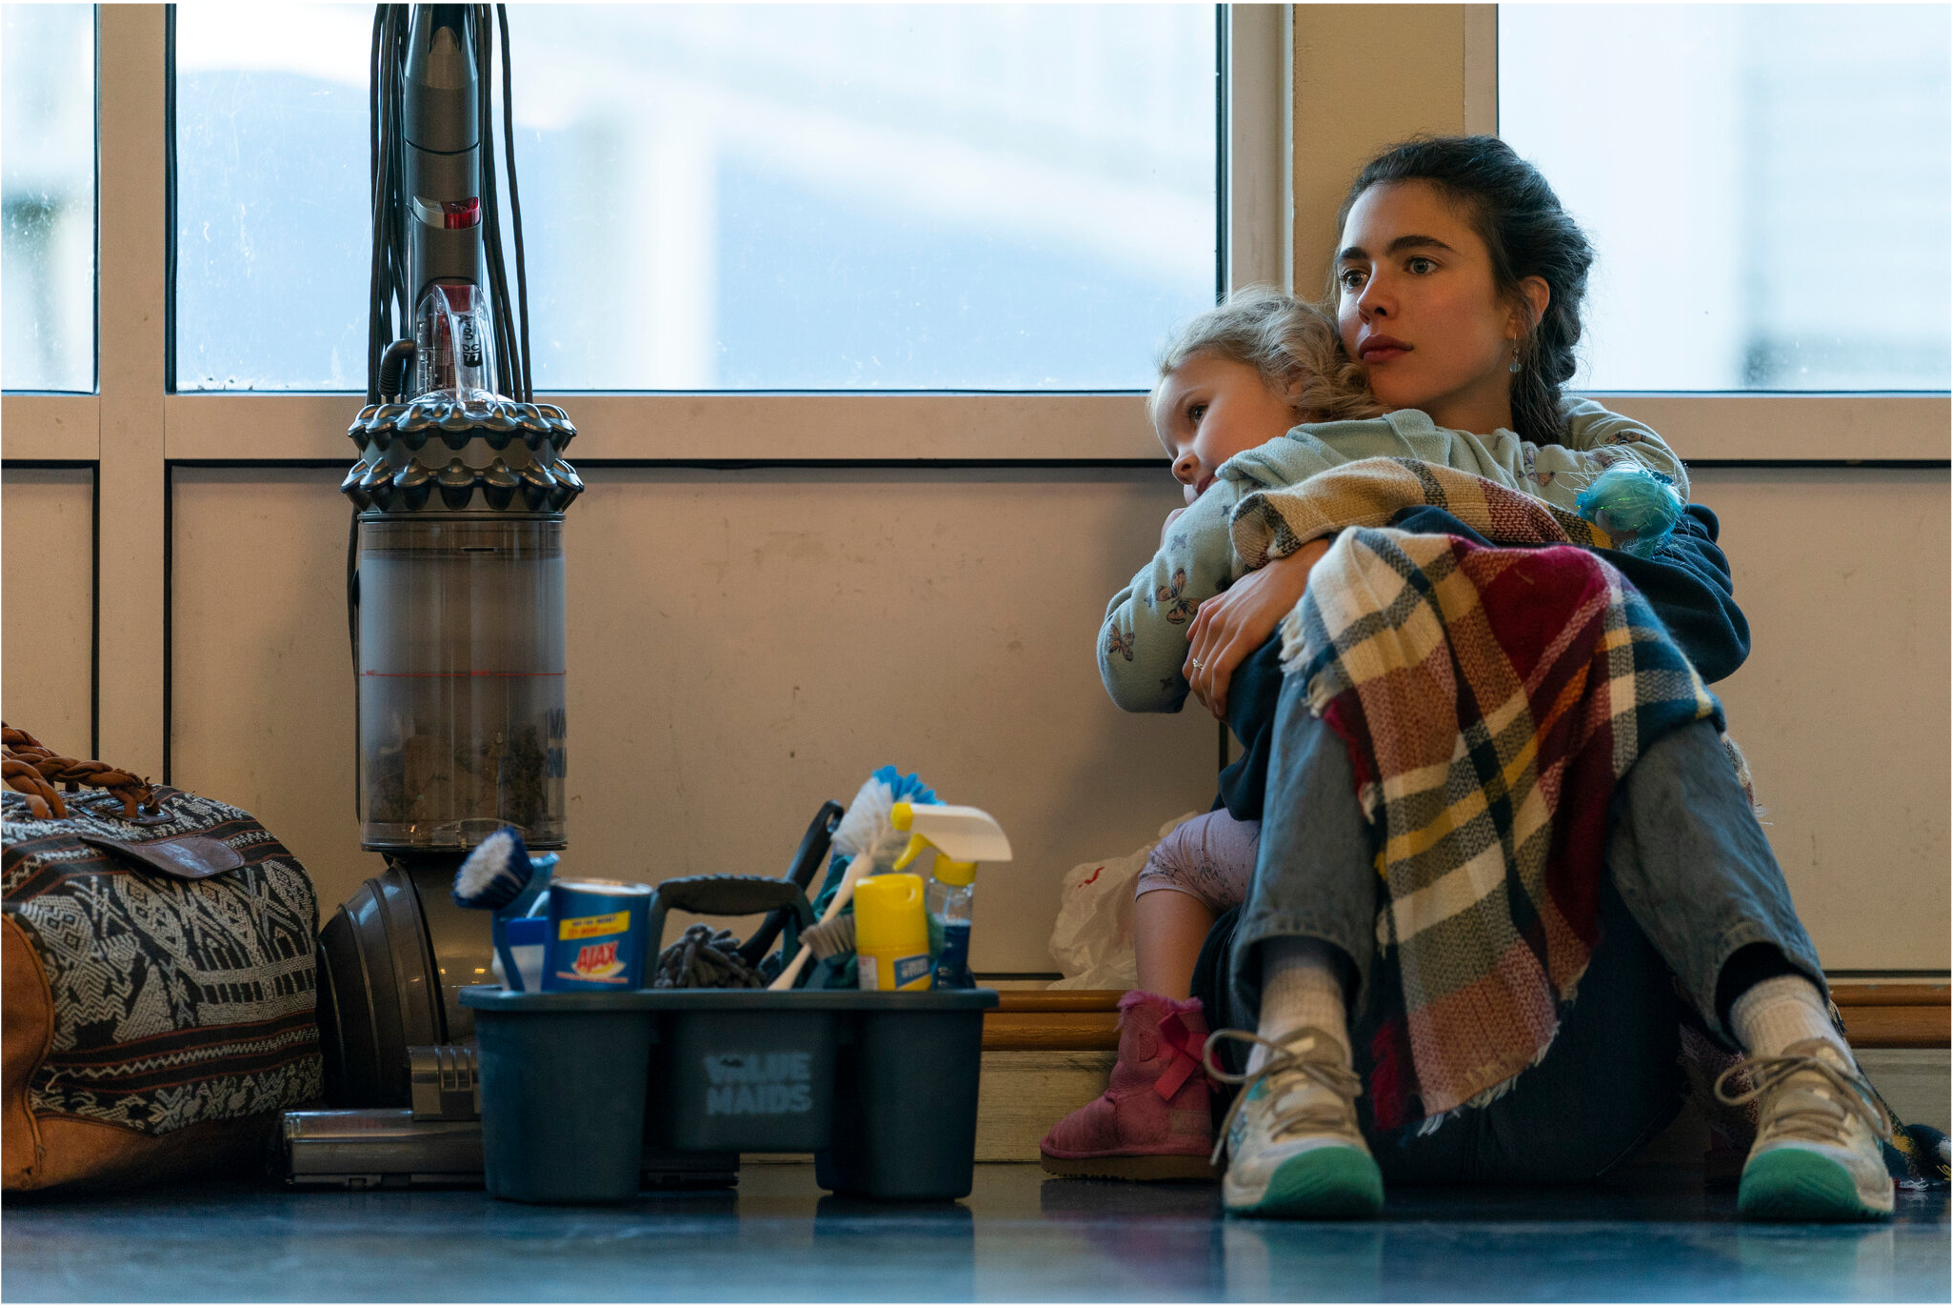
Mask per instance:
[[[1754,1089],[1731,1095],[1747,1071]],[[1884,1110],[1833,1040],[1797,1040],[1745,1059],[1713,1083],[1723,1104],[1760,1098],[1760,1128],[1741,1171],[1741,1216],[1768,1222],[1874,1222],[1897,1208],[1884,1165]]]

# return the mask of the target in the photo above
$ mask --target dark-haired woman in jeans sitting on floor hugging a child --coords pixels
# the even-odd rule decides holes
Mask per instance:
[[[1508,427],[1549,448],[1568,411],[1561,386],[1576,366],[1590,260],[1549,184],[1502,141],[1412,141],[1369,163],[1341,210],[1341,343],[1388,407],[1472,433]],[[1474,535],[1433,509],[1398,525]],[[1684,529],[1651,568],[1611,562],[1717,679],[1739,666],[1735,644],[1745,656],[1745,625],[1723,593],[1711,513],[1696,509]],[[1320,540],[1271,562],[1190,623],[1192,693],[1253,744],[1226,777],[1226,801],[1265,822],[1228,973],[1232,1008],[1257,1014],[1245,1093],[1226,1126],[1230,1210],[1367,1214],[1382,1202],[1382,1173],[1541,1183],[1608,1171],[1678,1112],[1676,977],[1698,1018],[1748,1055],[1758,1087],[1743,1214],[1889,1216],[1874,1095],[1831,1022],[1813,944],[1707,721],[1651,742],[1615,787],[1600,940],[1541,1061],[1500,1097],[1420,1132],[1380,1130],[1361,1110],[1363,1085],[1376,1081],[1355,1071],[1355,1050],[1371,1073],[1371,1042],[1394,1016],[1380,1006],[1392,987],[1369,987],[1376,850],[1347,746],[1302,687],[1277,693],[1271,664],[1259,668],[1324,556]]]

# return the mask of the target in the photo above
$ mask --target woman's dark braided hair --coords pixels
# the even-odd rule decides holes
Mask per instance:
[[[1496,292],[1525,313],[1523,278],[1539,276],[1549,284],[1551,304],[1517,354],[1521,372],[1510,386],[1510,413],[1515,435],[1525,441],[1562,444],[1559,401],[1562,384],[1578,370],[1584,284],[1594,257],[1584,229],[1564,213],[1535,164],[1496,137],[1414,137],[1388,149],[1353,178],[1339,206],[1339,227],[1361,194],[1392,182],[1427,182],[1459,206],[1488,247]]]

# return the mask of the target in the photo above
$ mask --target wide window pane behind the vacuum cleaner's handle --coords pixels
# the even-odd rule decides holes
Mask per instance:
[[[364,384],[335,8],[178,6],[180,388]],[[1214,6],[509,18],[540,388],[1142,388],[1216,294]]]

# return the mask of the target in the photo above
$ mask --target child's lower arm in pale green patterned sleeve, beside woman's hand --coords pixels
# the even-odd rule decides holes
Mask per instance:
[[[1177,713],[1190,693],[1183,660],[1190,652],[1196,605],[1232,584],[1239,568],[1230,544],[1237,486],[1220,478],[1169,523],[1163,546],[1136,580],[1108,601],[1096,636],[1102,685],[1130,713]]]

